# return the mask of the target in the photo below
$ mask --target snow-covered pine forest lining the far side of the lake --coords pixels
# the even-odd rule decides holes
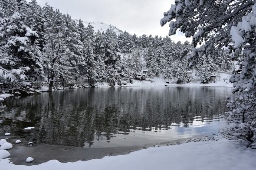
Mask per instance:
[[[147,77],[162,74],[177,83],[190,82],[187,71],[193,69],[202,83],[211,74],[236,71],[225,49],[215,58],[196,61],[187,67],[187,55],[193,45],[185,41],[175,43],[169,36],[131,35],[113,29],[95,32],[79,19],[54,10],[48,3],[41,7],[36,0],[0,1],[0,81],[24,80],[66,82],[110,80],[110,86],[133,83],[147,70]],[[116,73],[122,79],[116,79]]]

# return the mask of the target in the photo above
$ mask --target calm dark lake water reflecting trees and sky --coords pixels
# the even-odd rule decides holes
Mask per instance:
[[[225,87],[106,87],[7,98],[0,133],[75,147],[153,144],[216,133]],[[21,131],[33,126],[31,132]]]

